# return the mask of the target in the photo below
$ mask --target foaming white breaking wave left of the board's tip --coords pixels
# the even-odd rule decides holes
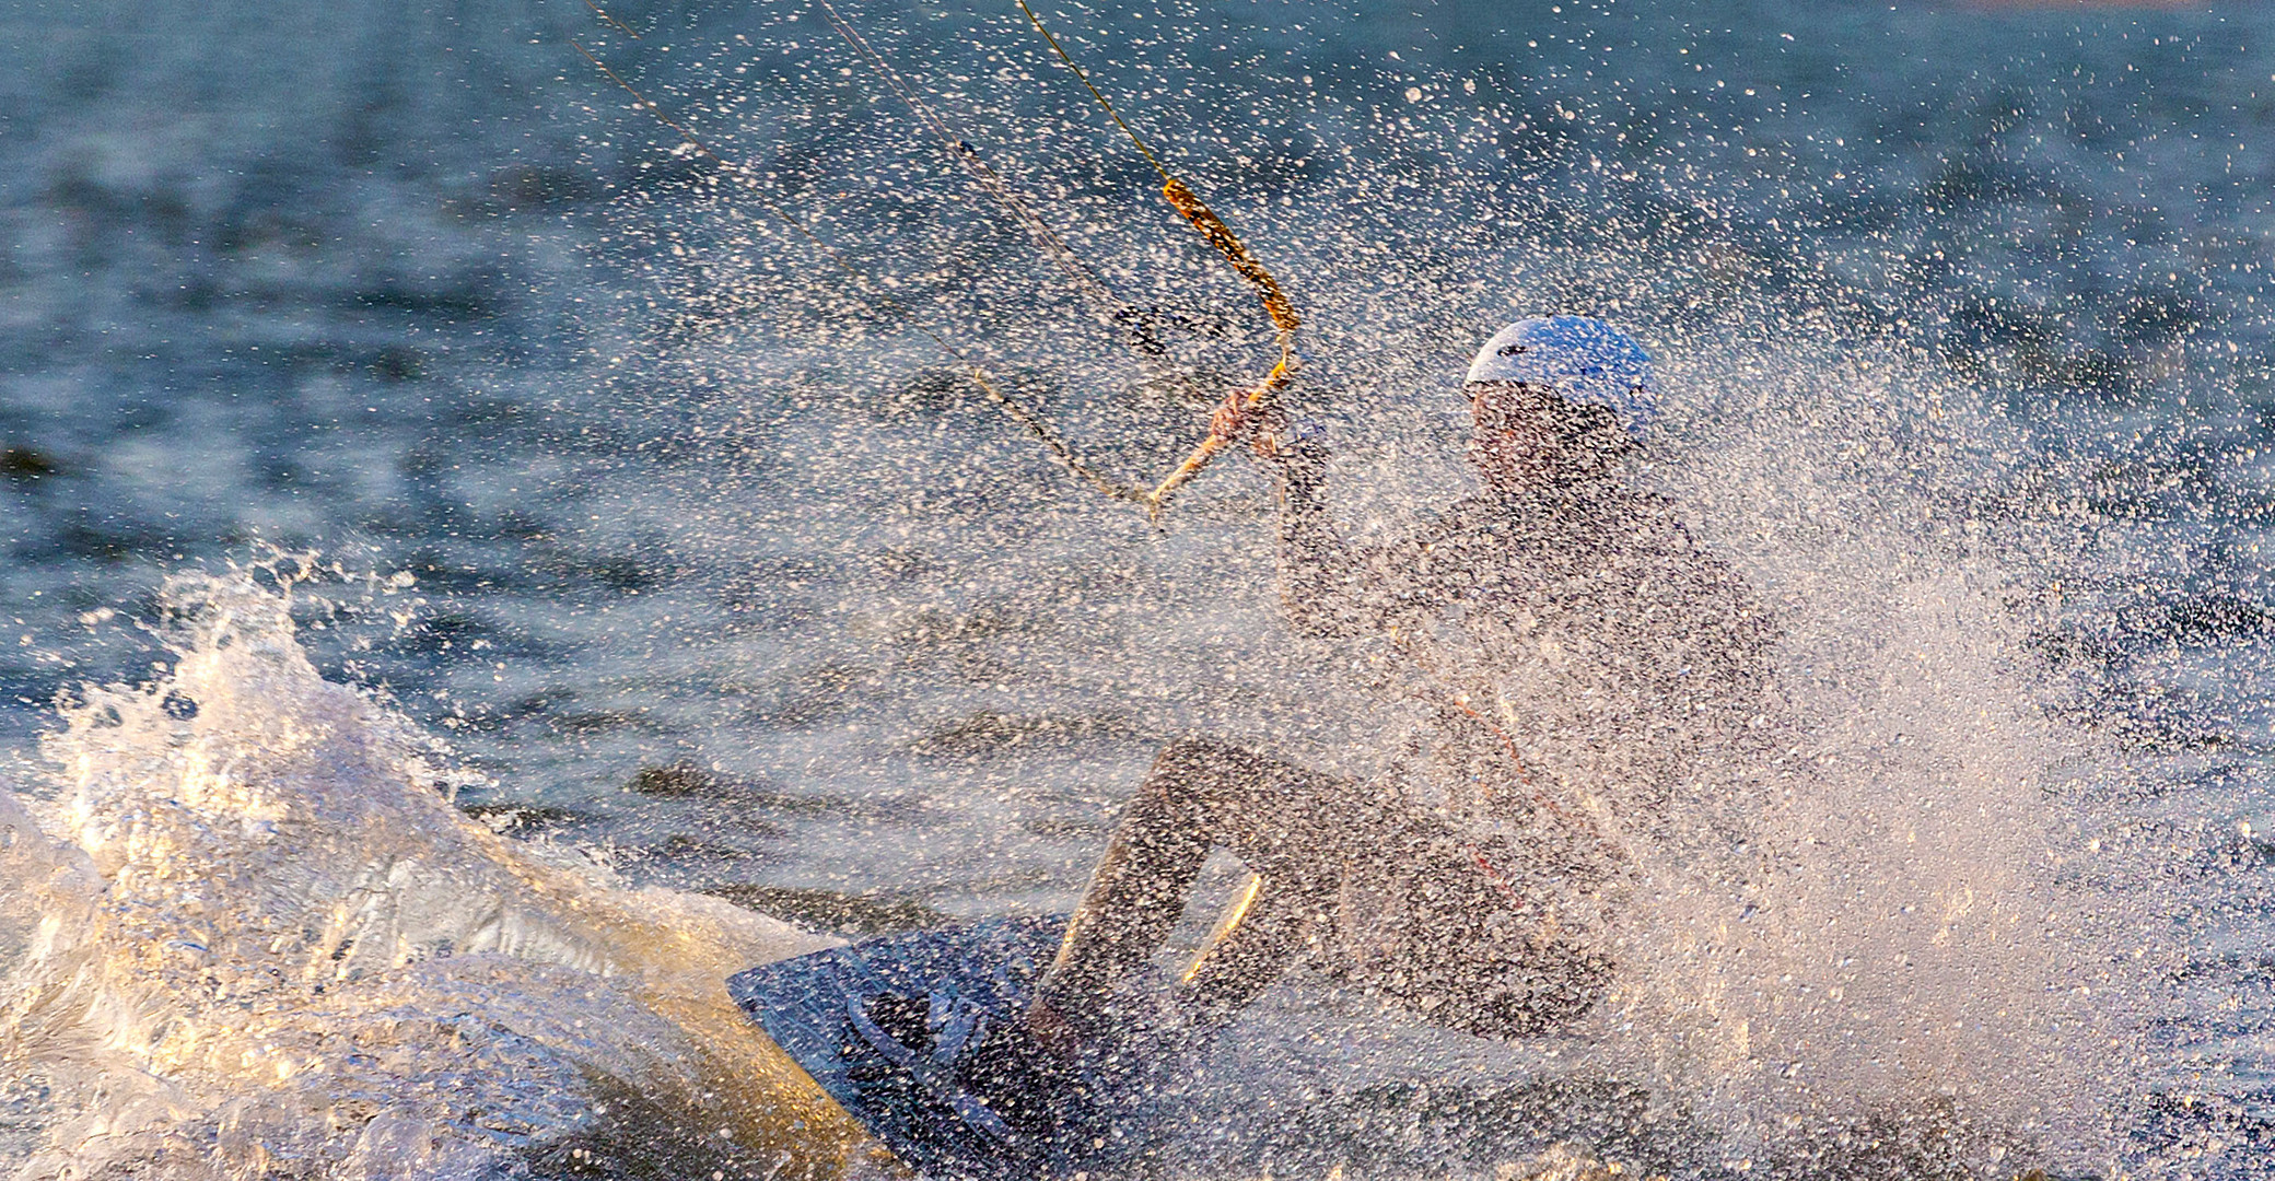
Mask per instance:
[[[66,710],[39,819],[0,794],[0,1049],[52,1085],[20,1176],[862,1158],[721,988],[828,940],[489,833],[280,592],[166,596],[173,667]]]

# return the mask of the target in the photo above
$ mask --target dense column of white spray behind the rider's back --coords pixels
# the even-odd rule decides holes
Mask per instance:
[[[2109,751],[2050,712],[2027,644],[2059,571],[2011,567],[1986,535],[2013,521],[1970,494],[2011,478],[1968,455],[2011,428],[1870,348],[1784,353],[1665,473],[1774,603],[1772,790],[1743,817],[1697,801],[1731,849],[1645,867],[1602,1044],[1647,1056],[1738,1161],[1881,1120],[1977,1170],[2111,1167],[2175,949],[2075,872],[2075,781]]]

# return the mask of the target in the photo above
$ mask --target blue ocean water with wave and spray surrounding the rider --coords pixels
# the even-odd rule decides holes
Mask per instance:
[[[842,5],[1165,364],[821,11],[605,9],[0,7],[16,1174],[876,1174],[728,972],[1062,910],[1169,735],[1379,755],[1244,460],[1149,523],[926,335],[1122,476],[1269,364],[1017,7]],[[2270,1172],[2275,14],[1044,16],[1306,314],[1351,535],[1483,335],[1629,323],[1806,735],[1588,1024],[1294,978],[1163,1174]]]

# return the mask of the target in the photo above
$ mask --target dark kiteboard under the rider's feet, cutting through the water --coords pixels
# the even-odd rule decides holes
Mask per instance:
[[[1076,1063],[1019,1024],[1065,919],[987,919],[753,967],[728,992],[839,1106],[933,1181],[1115,1172],[1194,1044],[1115,1015]]]

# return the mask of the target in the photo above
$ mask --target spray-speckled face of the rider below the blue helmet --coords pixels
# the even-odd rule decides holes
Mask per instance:
[[[1470,416],[1470,462],[1504,492],[1602,478],[1633,446],[1611,407],[1529,382],[1472,382]]]

